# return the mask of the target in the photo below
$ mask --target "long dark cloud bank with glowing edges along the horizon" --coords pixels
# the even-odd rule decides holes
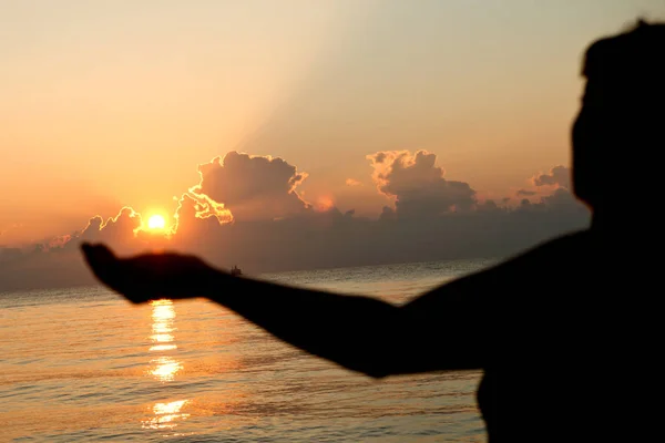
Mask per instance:
[[[259,274],[507,257],[589,225],[564,166],[535,175],[514,198],[479,202],[469,183],[444,178],[434,154],[379,152],[367,159],[389,203],[377,218],[357,217],[352,208],[317,210],[298,194],[305,173],[280,158],[231,152],[198,166],[201,182],[181,197],[168,235],[143,230],[131,208],[108,220],[95,216],[81,231],[0,249],[0,290],[93,284],[79,253],[84,240],[119,254],[193,253]]]

